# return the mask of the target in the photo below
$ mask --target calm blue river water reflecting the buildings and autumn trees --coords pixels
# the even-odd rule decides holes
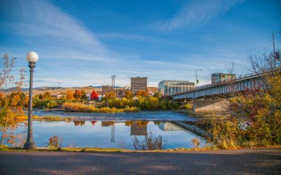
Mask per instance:
[[[204,145],[204,131],[186,121],[194,121],[184,113],[142,111],[140,113],[65,113],[35,111],[37,116],[73,116],[73,122],[33,122],[33,137],[37,146],[47,146],[53,136],[63,138],[63,146],[134,149],[132,139],[143,140],[152,132],[162,136],[166,148],[191,148],[197,138]],[[81,120],[79,120],[81,119]],[[24,127],[18,129],[26,130]],[[196,133],[196,134],[195,134]]]

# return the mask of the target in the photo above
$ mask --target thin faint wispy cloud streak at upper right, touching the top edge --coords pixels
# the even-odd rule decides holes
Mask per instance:
[[[192,0],[186,3],[174,17],[157,22],[153,28],[160,31],[194,28],[226,13],[239,3],[242,3],[242,0]]]

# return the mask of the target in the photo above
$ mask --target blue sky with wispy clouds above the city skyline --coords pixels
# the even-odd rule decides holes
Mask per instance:
[[[203,85],[211,73],[249,72],[247,55],[272,48],[280,1],[0,1],[0,54],[39,54],[34,87],[129,85],[130,77]],[[276,35],[280,48],[281,34]]]

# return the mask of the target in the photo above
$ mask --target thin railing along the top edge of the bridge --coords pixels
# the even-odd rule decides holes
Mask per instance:
[[[274,70],[272,69],[268,69],[266,71],[261,71],[259,73],[247,73],[245,75],[242,75],[242,76],[235,76],[233,78],[230,78],[226,81],[221,81],[221,82],[217,82],[217,83],[211,83],[211,84],[207,84],[207,85],[200,85],[198,87],[195,87],[193,88],[192,90],[185,90],[185,91],[182,91],[182,92],[178,92],[178,93],[173,93],[173,94],[169,94],[168,96],[171,96],[171,95],[176,95],[176,94],[184,94],[186,92],[192,92],[192,91],[197,91],[197,90],[202,90],[202,89],[207,89],[209,87],[215,87],[215,86],[218,86],[218,85],[226,85],[226,84],[229,84],[229,83],[233,83],[233,82],[236,82],[236,81],[239,81],[239,80],[243,80],[243,79],[247,79],[247,78],[254,78],[256,76],[261,76],[263,73],[270,73],[270,72],[273,72],[273,71],[280,71],[281,67],[276,67]]]

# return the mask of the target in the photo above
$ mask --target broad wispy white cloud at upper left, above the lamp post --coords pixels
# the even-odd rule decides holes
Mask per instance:
[[[41,57],[106,60],[114,54],[79,20],[48,1],[18,1],[17,6],[20,15],[6,27],[24,36]]]

